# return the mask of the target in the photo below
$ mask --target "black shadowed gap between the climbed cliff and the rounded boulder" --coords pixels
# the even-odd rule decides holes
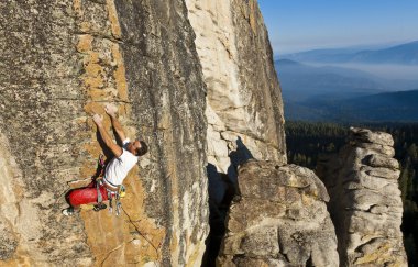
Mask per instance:
[[[229,154],[230,166],[227,174],[218,171],[217,167],[208,164],[206,167],[208,175],[208,194],[209,194],[209,236],[206,240],[206,252],[204,255],[204,267],[216,266],[223,236],[226,234],[226,218],[235,196],[239,196],[238,167],[245,162],[253,159],[250,149],[238,136],[237,149]]]

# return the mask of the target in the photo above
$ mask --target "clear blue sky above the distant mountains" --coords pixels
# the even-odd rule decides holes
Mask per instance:
[[[418,40],[418,0],[258,0],[275,55]]]

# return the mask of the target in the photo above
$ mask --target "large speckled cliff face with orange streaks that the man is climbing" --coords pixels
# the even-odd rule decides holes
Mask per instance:
[[[184,2],[11,0],[0,20],[0,265],[199,265],[206,86]],[[150,154],[120,218],[63,218],[65,192],[96,171],[89,118],[107,102]]]

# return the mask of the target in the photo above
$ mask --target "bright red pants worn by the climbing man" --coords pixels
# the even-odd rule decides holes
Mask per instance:
[[[102,200],[108,200],[108,191],[103,186],[100,186],[100,192]],[[97,188],[96,182],[91,182],[85,188],[74,189],[68,192],[67,201],[72,207],[80,205],[80,204],[90,204],[97,203]]]

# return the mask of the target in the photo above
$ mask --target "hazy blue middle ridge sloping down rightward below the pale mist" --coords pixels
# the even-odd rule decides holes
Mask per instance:
[[[275,62],[285,101],[344,99],[384,91],[418,88],[418,81],[382,79],[367,71],[345,67],[316,67],[290,59]]]

